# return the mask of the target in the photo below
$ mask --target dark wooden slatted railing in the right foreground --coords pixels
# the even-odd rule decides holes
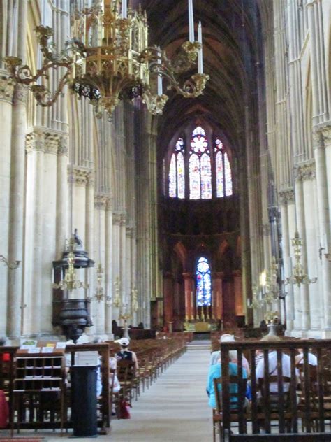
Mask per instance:
[[[284,338],[278,342],[231,342],[220,346],[221,441],[331,441],[330,425],[325,423],[331,419],[330,340]],[[303,362],[296,366],[295,356],[299,349],[303,349]],[[238,378],[243,376],[242,355],[251,366],[251,404],[246,408],[238,404],[235,429],[231,417],[233,407],[230,407],[229,350],[237,350]],[[256,350],[263,352],[263,378],[256,377]],[[270,350],[277,354],[273,373],[269,369]],[[317,366],[309,364],[309,352],[316,355]],[[290,373],[287,374],[285,368],[283,370],[284,354],[288,355],[290,362]],[[271,383],[272,390],[277,390],[277,406],[275,392],[270,391]],[[260,434],[261,431],[265,434]]]

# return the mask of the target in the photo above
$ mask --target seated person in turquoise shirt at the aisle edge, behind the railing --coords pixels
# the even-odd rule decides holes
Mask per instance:
[[[230,376],[237,376],[238,374],[238,366],[235,362],[237,360],[237,352],[235,350],[229,351],[229,375]],[[216,408],[216,396],[215,396],[215,390],[214,390],[214,379],[221,378],[221,359],[216,364],[213,364],[209,368],[208,373],[208,379],[207,379],[207,394],[209,396],[208,405],[212,408]],[[242,378],[247,379],[247,371],[245,369],[242,369]],[[219,385],[219,388],[221,389],[221,385]],[[237,397],[231,396],[231,393],[237,394],[238,392],[238,385],[234,383],[230,383],[230,401],[237,401]],[[250,399],[249,397],[249,391],[246,392],[247,399]],[[247,401],[245,403],[247,405]]]

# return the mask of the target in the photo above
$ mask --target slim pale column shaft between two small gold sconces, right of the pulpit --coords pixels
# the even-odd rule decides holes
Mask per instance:
[[[105,294],[112,297],[112,199],[105,206]],[[112,306],[105,305],[105,333],[112,337]]]

